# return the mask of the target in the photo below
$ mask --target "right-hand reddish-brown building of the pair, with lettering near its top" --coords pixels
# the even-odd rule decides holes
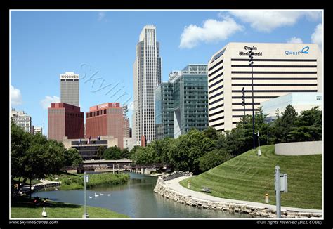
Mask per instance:
[[[103,103],[86,112],[86,137],[113,136],[124,147],[124,115],[120,103]]]

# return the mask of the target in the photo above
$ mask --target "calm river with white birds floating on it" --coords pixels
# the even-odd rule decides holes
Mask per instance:
[[[87,205],[107,208],[131,218],[252,218],[249,214],[199,209],[174,202],[153,192],[156,176],[129,174],[131,179],[124,185],[87,190]],[[43,191],[32,196],[84,205],[84,190]]]

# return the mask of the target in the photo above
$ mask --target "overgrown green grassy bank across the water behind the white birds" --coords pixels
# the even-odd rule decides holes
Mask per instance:
[[[48,181],[60,181],[61,190],[74,190],[84,188],[83,174],[62,173],[60,175],[46,178]],[[89,174],[87,188],[93,188],[100,185],[119,185],[129,181],[129,174],[112,174],[105,172],[103,174]]]

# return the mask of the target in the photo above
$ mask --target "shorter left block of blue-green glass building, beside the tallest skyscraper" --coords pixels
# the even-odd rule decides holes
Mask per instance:
[[[174,138],[174,84],[163,82],[155,90],[156,139]]]

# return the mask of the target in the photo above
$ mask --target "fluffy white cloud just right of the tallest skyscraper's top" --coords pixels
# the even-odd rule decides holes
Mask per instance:
[[[224,20],[208,19],[204,21],[203,27],[197,25],[185,26],[181,34],[180,48],[193,48],[200,41],[206,43],[227,39],[237,31],[243,30],[233,18],[224,17]]]

